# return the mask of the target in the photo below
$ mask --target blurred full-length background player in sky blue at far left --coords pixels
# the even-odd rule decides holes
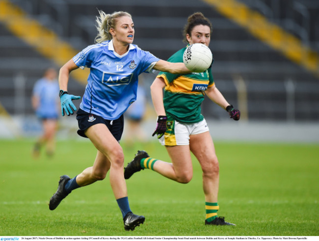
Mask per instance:
[[[40,155],[40,149],[46,145],[46,153],[52,156],[55,149],[55,133],[57,130],[59,99],[59,84],[57,82],[57,71],[49,68],[44,76],[39,79],[34,87],[31,97],[32,107],[42,122],[43,133],[33,147],[33,157]]]

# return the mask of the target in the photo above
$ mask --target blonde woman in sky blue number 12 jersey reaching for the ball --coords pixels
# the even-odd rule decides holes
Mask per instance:
[[[189,73],[183,63],[169,63],[133,45],[134,23],[127,12],[97,17],[96,44],[84,48],[61,67],[59,73],[62,115],[77,110],[72,100],[80,96],[67,92],[70,72],[90,68],[85,92],[77,112],[78,133],[91,140],[97,149],[93,166],[70,178],[60,176],[57,191],[50,199],[54,210],[72,190],[103,180],[109,171],[110,184],[123,215],[125,230],[144,222],[132,213],[124,179],[124,154],[119,141],[123,132],[123,113],[136,100],[138,75],[152,68],[171,73]]]

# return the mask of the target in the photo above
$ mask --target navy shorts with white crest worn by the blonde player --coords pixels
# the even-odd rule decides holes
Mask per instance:
[[[124,129],[123,115],[121,115],[121,117],[116,120],[106,120],[99,115],[91,114],[91,113],[85,112],[84,110],[79,109],[77,112],[77,120],[79,124],[79,129],[80,129],[78,130],[78,134],[82,137],[87,138],[87,136],[84,134],[84,131],[86,129],[96,124],[102,123],[106,125],[108,130],[112,133],[112,135],[117,141],[121,140],[123,129]]]

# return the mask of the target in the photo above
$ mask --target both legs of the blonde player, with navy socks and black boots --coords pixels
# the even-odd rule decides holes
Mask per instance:
[[[73,183],[70,185],[75,184],[77,187],[86,186],[103,180],[109,170],[110,184],[123,215],[124,228],[125,230],[134,230],[136,226],[144,222],[145,217],[133,214],[129,206],[123,173],[124,154],[122,147],[104,124],[89,127],[85,134],[98,150],[94,165],[86,168],[72,179],[67,175],[61,176],[58,190],[50,199],[49,208],[54,210],[60,201],[69,194],[66,185],[69,185],[70,182]]]

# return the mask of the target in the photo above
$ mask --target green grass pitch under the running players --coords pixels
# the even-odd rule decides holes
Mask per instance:
[[[127,180],[133,232],[123,227],[108,175],[74,190],[56,210],[49,199],[59,176],[93,164],[89,141],[59,141],[53,158],[31,158],[31,140],[0,140],[1,236],[318,236],[319,145],[216,142],[220,163],[219,216],[236,227],[205,226],[201,169],[180,184],[144,170]],[[134,153],[169,160],[157,142],[122,144],[125,165]]]

